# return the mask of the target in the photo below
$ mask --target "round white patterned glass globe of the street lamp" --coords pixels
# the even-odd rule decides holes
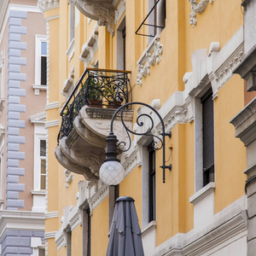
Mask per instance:
[[[100,168],[100,178],[109,186],[118,185],[124,177],[124,167],[118,161],[106,161]]]

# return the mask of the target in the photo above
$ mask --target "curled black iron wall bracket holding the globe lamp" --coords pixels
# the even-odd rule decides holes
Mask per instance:
[[[137,116],[137,125],[140,126],[140,127],[143,127],[145,124],[143,122],[143,119],[148,119],[149,120],[149,127],[148,127],[148,130],[145,131],[145,132],[136,132],[136,131],[131,131],[131,129],[129,129],[127,127],[127,125],[125,125],[125,121],[124,121],[124,118],[123,118],[123,113],[124,113],[124,110],[125,108],[129,107],[129,106],[132,106],[132,105],[142,105],[146,108],[150,108],[157,116],[158,118],[160,119],[160,124],[161,124],[161,128],[162,128],[162,132],[160,133],[160,136],[161,137],[158,137],[154,134],[152,134],[152,130],[154,129],[154,120],[152,119],[152,117],[148,114],[148,113],[141,113]],[[115,116],[117,115],[117,113],[120,112],[120,119],[121,119],[121,122],[123,124],[123,126],[125,127],[125,131],[128,135],[128,138],[129,138],[129,145],[127,146],[125,142],[119,142],[117,144],[117,147],[119,148],[119,150],[121,152],[125,152],[127,150],[129,150],[131,148],[131,135],[130,134],[134,134],[134,135],[139,135],[139,136],[150,136],[150,137],[154,137],[157,139],[158,142],[154,142],[152,144],[152,147],[155,149],[155,150],[160,150],[162,149],[163,150],[163,165],[160,166],[160,168],[163,169],[163,183],[166,182],[166,169],[169,169],[170,171],[172,170],[172,165],[169,165],[169,166],[166,166],[166,136],[168,137],[172,137],[172,131],[170,132],[166,132],[165,131],[165,124],[164,124],[164,121],[163,119],[161,118],[160,116],[160,113],[158,113],[153,107],[149,106],[148,104],[146,103],[143,103],[143,102],[128,102],[128,103],[125,103],[123,106],[119,107],[115,113],[113,113],[113,117],[111,119],[111,124],[110,124],[110,133],[109,135],[113,135],[113,120],[115,118]]]

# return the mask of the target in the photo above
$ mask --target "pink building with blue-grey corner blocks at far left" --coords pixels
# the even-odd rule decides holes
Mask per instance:
[[[0,2],[0,254],[44,255],[46,26],[35,0]]]

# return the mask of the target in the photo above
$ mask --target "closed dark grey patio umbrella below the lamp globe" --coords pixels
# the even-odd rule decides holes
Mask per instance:
[[[134,200],[130,196],[115,201],[109,231],[107,256],[143,256],[142,232]]]

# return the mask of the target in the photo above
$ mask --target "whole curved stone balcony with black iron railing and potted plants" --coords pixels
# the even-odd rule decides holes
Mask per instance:
[[[61,166],[87,180],[98,180],[110,119],[117,108],[132,99],[129,73],[96,68],[84,71],[60,113],[55,157]],[[132,116],[133,111],[125,109],[125,118],[115,121],[114,129],[120,139],[126,137],[120,122],[131,127]]]

